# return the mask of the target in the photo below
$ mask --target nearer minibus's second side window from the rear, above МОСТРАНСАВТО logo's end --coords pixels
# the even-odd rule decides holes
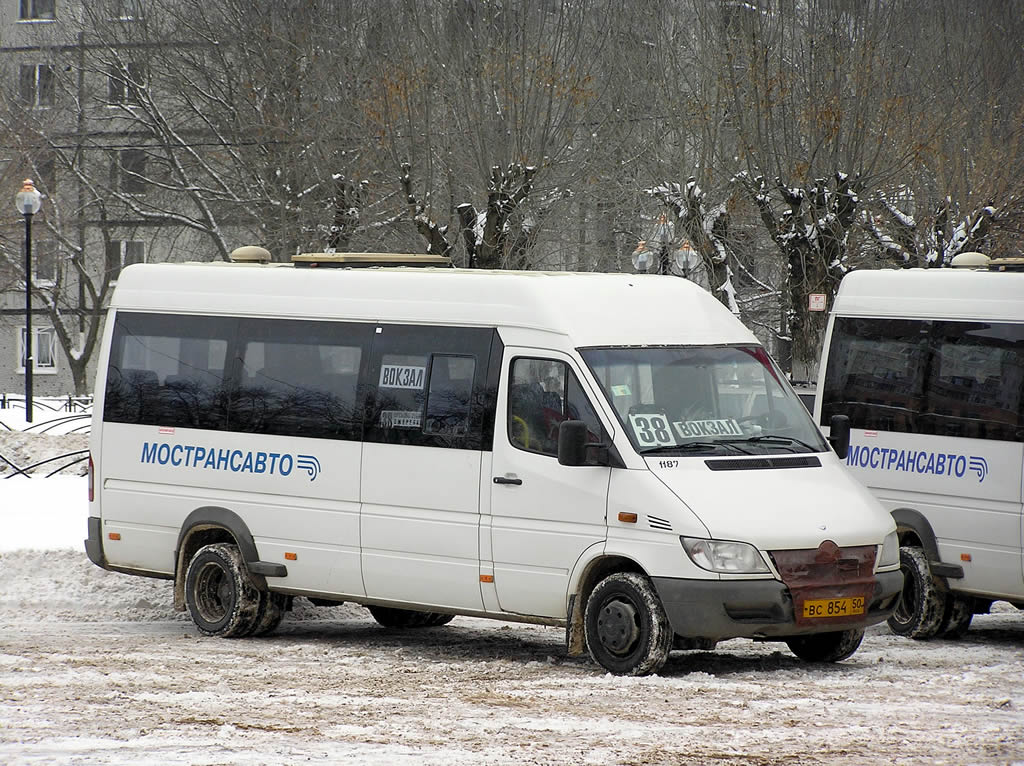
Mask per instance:
[[[242,320],[229,429],[359,439],[359,371],[373,326]]]

